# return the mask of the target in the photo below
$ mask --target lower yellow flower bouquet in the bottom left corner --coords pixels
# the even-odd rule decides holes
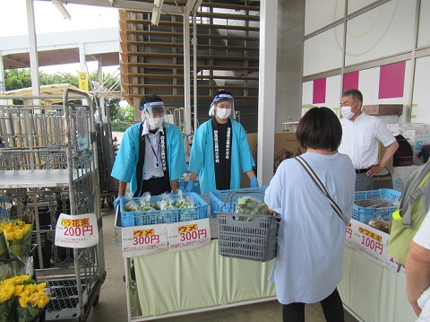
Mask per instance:
[[[39,318],[49,301],[46,287],[47,283],[36,283],[30,275],[1,282],[0,322],[30,322]]]

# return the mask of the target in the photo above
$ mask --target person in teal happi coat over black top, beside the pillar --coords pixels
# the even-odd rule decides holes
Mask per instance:
[[[199,176],[202,194],[211,190],[240,187],[241,168],[250,178],[251,187],[258,187],[244,127],[235,121],[234,98],[228,91],[219,91],[211,104],[211,119],[195,131],[188,170],[190,180],[186,192],[193,191]]]

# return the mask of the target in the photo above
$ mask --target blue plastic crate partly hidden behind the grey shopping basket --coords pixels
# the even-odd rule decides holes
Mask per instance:
[[[254,196],[258,199],[264,200],[264,187],[250,187],[234,190],[212,190],[209,192],[211,214],[217,217],[216,212],[234,213],[236,209],[237,199],[241,196]]]

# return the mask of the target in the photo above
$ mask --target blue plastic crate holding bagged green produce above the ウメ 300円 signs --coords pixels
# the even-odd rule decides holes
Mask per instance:
[[[176,195],[172,195],[175,199]],[[130,200],[121,199],[121,223],[123,227],[143,226],[155,223],[167,222],[187,222],[197,219],[208,218],[208,204],[202,199],[201,196],[190,192],[184,193],[182,196],[191,196],[194,201],[193,208],[177,208],[168,210],[153,210],[150,212],[125,212],[124,207]],[[133,198],[133,200],[139,198]],[[161,196],[151,196],[150,202],[157,203],[161,201]]]

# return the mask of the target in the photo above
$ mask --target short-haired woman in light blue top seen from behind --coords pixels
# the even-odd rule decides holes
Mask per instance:
[[[337,285],[356,174],[348,156],[337,152],[341,137],[339,118],[331,109],[310,109],[297,126],[297,140],[307,149],[301,158],[339,205],[341,215],[296,158],[280,163],[265,193],[266,204],[280,214],[270,281],[283,305],[283,321],[305,321],[305,303],[318,301],[327,321],[344,320]]]

